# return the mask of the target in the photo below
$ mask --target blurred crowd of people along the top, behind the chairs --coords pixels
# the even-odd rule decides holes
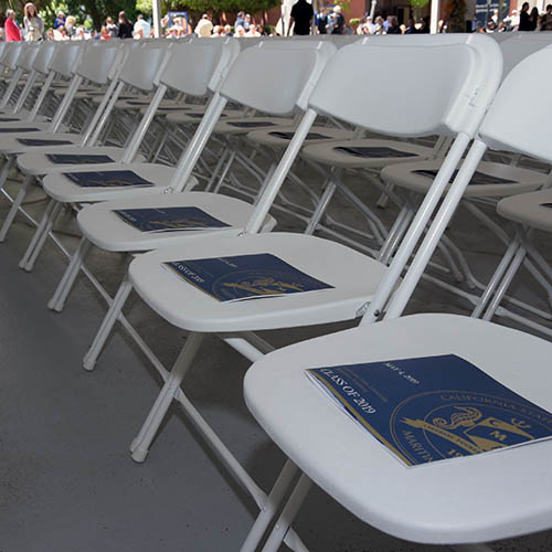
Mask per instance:
[[[357,24],[358,23],[358,24]],[[209,14],[203,14],[193,24],[185,14],[178,17],[166,15],[161,20],[162,35],[168,39],[178,39],[189,34],[198,36],[262,36],[266,34],[414,34],[429,32],[429,18],[415,21],[408,19],[400,24],[395,15],[382,18],[367,17],[355,20],[355,29],[347,22],[341,7],[321,8],[315,13],[312,6],[307,0],[297,0],[289,13],[287,29],[278,31],[275,28],[265,28],[244,11],[237,12],[234,24],[214,24]],[[438,32],[447,32],[447,22],[439,21]],[[520,12],[512,11],[503,20],[499,20],[498,10],[488,18],[486,25],[474,21],[475,32],[503,32],[503,31],[552,31],[552,4],[546,6],[543,13],[537,8],[530,10],[529,2],[524,2]],[[110,39],[149,39],[152,36],[151,23],[142,15],[138,15],[135,23],[129,21],[124,11],[119,12],[117,21],[108,17],[99,31],[86,30],[83,24],[77,24],[76,18],[65,15],[60,11],[52,28],[44,30],[44,22],[36,11],[36,7],[29,2],[23,9],[22,24],[18,22],[12,9],[6,11],[6,21],[2,39],[6,41],[38,41],[38,40],[110,40]]]

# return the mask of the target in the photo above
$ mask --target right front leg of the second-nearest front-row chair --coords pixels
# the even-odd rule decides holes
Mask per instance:
[[[203,333],[195,332],[188,336],[184,347],[180,351],[169,376],[164,381],[161,392],[157,396],[148,417],[130,445],[130,453],[135,461],[142,463],[146,459],[151,442],[174,400],[174,395],[180,391],[180,384],[192,364],[192,360],[203,341]]]

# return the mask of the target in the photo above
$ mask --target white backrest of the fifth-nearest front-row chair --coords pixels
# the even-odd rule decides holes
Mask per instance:
[[[163,59],[171,45],[151,41],[132,49],[123,66],[119,79],[140,91],[151,91]]]

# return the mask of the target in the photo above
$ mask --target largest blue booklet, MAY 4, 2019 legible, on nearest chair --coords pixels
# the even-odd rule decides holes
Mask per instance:
[[[552,414],[456,354],[306,370],[407,466],[552,436]]]

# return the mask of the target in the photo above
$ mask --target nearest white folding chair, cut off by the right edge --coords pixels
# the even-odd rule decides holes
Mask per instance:
[[[552,93],[550,73],[541,71],[551,62],[552,47],[539,51],[517,65],[502,83],[383,321],[376,320],[388,302],[384,288],[394,280],[376,293],[360,328],[276,351],[247,372],[247,405],[289,457],[273,489],[275,500],[266,505],[270,513],[278,507],[276,497],[288,492],[296,466],[302,471],[265,552],[278,549],[311,481],[367,523],[425,544],[482,552],[491,549],[469,543],[551,529],[551,440],[408,469],[375,438],[359,433],[354,422],[343,416],[304,373],[307,368],[456,354],[538,406],[552,408],[549,342],[461,316],[399,318],[486,150],[523,152],[552,162],[548,139],[552,119],[549,114],[543,116],[540,107],[542,95]],[[520,98],[526,100],[528,117],[512,123],[509,115]],[[383,296],[381,291],[385,291]],[[443,455],[446,457],[445,450]]]

